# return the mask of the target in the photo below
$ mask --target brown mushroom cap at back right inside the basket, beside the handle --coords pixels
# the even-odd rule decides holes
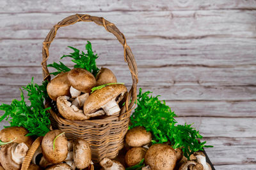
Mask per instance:
[[[117,82],[115,74],[106,67],[102,67],[100,69],[99,73],[96,76],[96,80],[97,86]]]

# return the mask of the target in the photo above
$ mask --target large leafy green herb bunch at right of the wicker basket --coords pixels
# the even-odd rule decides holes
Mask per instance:
[[[160,101],[159,96],[149,97],[152,92],[138,94],[137,108],[131,116],[131,127],[143,126],[152,132],[152,143],[164,143],[169,141],[173,148],[182,148],[184,156],[189,158],[191,153],[203,150],[205,142],[199,143],[202,136],[191,125],[177,125],[174,117],[177,117],[165,101]]]

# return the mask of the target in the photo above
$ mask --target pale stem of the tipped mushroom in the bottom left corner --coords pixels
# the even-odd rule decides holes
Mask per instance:
[[[24,157],[27,155],[28,146],[25,143],[20,143],[16,147],[12,148],[12,159],[17,164],[21,164],[24,160]]]

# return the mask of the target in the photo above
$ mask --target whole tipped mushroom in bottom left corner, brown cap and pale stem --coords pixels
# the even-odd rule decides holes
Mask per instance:
[[[28,152],[25,143],[9,143],[1,146],[0,162],[4,169],[20,169],[21,164]]]

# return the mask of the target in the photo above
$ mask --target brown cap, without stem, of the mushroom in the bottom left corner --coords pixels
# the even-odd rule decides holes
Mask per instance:
[[[21,164],[17,164],[12,159],[12,148],[16,147],[17,145],[18,143],[8,143],[7,145],[1,146],[0,162],[4,169],[20,169]]]

